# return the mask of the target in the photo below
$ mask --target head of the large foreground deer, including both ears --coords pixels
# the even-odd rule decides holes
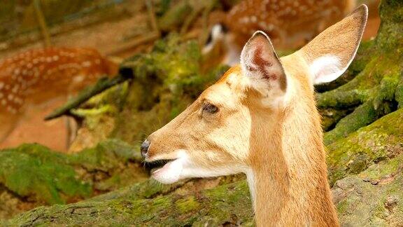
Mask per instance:
[[[255,32],[243,47],[241,64],[229,69],[188,109],[143,144],[147,148],[143,149],[146,161],[173,160],[155,177],[162,177],[162,181],[169,178],[171,182],[244,172],[253,153],[250,137],[263,139],[277,133],[262,133],[258,128],[253,130],[259,132],[253,132],[252,120],[262,121],[262,128],[280,129],[274,126],[290,113],[289,104],[297,100],[313,105],[313,85],[338,78],[353,60],[366,12],[366,7],[361,6],[282,59],[269,37]],[[181,167],[176,168],[180,163]],[[173,171],[171,177],[169,170]]]

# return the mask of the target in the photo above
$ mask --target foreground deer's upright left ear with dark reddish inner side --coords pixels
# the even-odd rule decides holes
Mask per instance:
[[[264,32],[255,32],[241,52],[241,68],[253,85],[285,92],[286,78],[273,44]]]

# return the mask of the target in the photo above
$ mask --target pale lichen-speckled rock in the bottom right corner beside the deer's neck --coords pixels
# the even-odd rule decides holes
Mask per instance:
[[[403,220],[403,156],[371,165],[336,182],[334,202],[343,226],[400,226]]]

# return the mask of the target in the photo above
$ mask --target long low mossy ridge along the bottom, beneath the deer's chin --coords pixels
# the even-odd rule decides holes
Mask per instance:
[[[253,224],[246,182],[218,186],[199,194],[130,198],[135,189],[122,188],[123,197],[39,207],[8,221],[8,225],[55,226],[221,226]],[[134,190],[134,191],[132,191]],[[119,193],[115,191],[113,193]],[[218,192],[215,192],[218,191]],[[113,197],[113,196],[111,196]]]

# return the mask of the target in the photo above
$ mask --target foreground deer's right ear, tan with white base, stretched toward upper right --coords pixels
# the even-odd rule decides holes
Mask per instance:
[[[346,71],[357,53],[368,18],[362,5],[299,50],[309,65],[313,84],[328,83]]]

